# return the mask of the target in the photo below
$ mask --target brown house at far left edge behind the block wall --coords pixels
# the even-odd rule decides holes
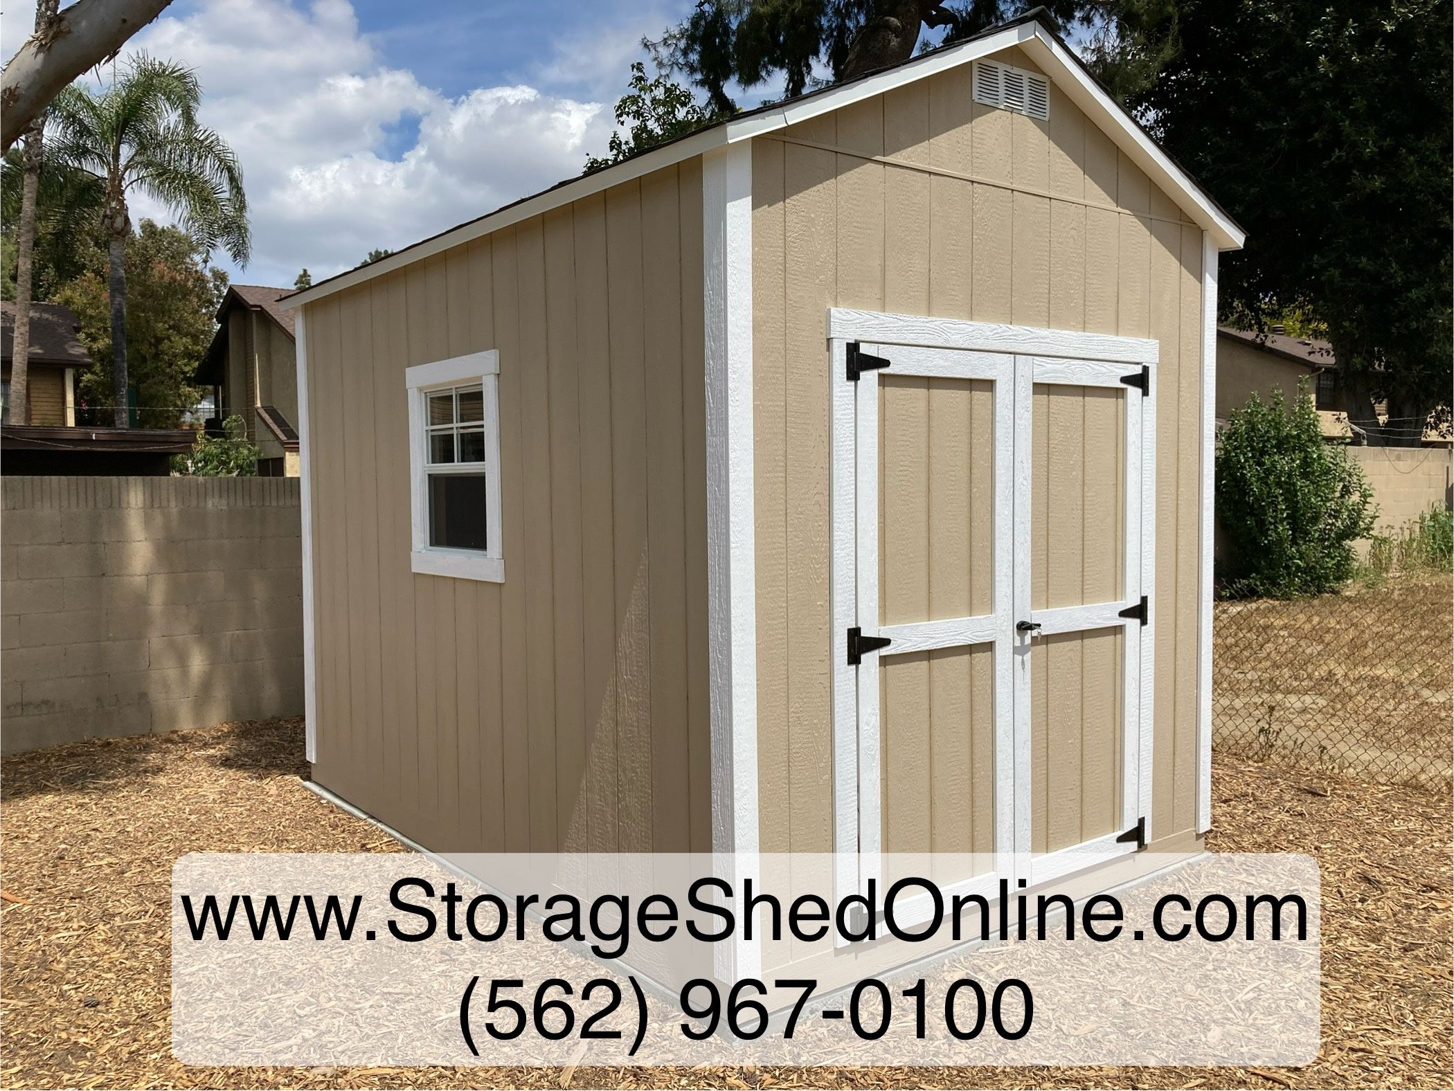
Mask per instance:
[[[192,447],[185,428],[76,426],[76,384],[90,367],[90,353],[70,307],[31,304],[31,352],[26,377],[29,422],[10,420],[10,368],[15,304],[0,304],[0,367],[4,420],[0,423],[0,473],[63,476],[145,476],[172,473],[172,455]]]

